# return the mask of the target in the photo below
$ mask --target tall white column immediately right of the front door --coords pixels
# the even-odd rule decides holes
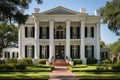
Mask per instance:
[[[70,21],[66,21],[66,55],[70,58]]]

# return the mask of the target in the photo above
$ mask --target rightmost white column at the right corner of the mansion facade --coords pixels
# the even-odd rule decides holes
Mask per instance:
[[[97,53],[96,58],[100,63],[100,24],[97,24]]]

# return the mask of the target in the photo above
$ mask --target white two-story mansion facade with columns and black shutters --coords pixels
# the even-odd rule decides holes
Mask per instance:
[[[100,59],[100,17],[64,7],[35,12],[19,27],[19,58]]]

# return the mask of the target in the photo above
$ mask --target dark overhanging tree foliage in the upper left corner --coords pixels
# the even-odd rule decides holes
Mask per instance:
[[[36,1],[42,3],[42,0]],[[0,0],[0,22],[24,24],[28,15],[22,14],[19,9],[28,9],[31,2],[32,0]]]

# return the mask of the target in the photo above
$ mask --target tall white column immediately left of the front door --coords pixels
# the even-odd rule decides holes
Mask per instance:
[[[49,21],[49,26],[50,26],[50,28],[49,28],[49,38],[50,38],[50,40],[49,40],[49,50],[50,50],[50,58],[54,55],[54,40],[53,40],[53,38],[54,38],[54,21]]]

